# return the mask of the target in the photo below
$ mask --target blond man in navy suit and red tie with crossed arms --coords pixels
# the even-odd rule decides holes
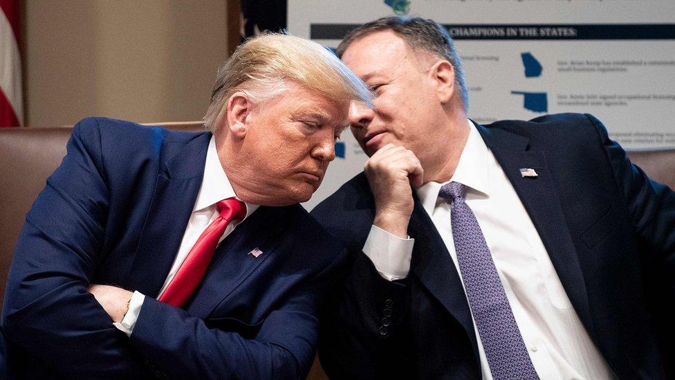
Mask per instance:
[[[322,46],[263,35],[219,69],[208,132],[78,123],[17,243],[7,376],[305,377],[344,251],[297,203],[369,96]]]

